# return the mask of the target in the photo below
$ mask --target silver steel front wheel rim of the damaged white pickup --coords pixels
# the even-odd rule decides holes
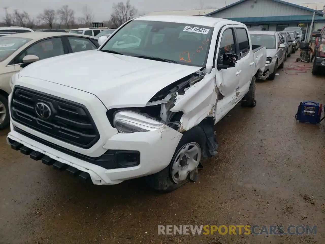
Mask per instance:
[[[199,166],[201,147],[196,142],[190,142],[180,148],[174,157],[171,175],[176,184],[187,179],[188,173]]]

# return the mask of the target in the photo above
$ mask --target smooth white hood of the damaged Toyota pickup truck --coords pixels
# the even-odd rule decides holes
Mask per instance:
[[[92,93],[109,109],[146,106],[162,88],[201,68],[90,50],[34,62],[20,76]]]

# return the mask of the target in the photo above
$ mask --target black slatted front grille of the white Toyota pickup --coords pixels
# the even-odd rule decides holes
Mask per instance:
[[[36,113],[36,104],[40,103],[50,108],[48,118]],[[99,140],[91,115],[80,103],[16,86],[10,108],[13,120],[63,142],[88,149]]]

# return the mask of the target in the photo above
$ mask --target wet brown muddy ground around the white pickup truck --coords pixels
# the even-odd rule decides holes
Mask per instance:
[[[325,102],[325,76],[296,57],[257,83],[255,108],[236,106],[218,123],[219,155],[199,181],[169,194],[142,179],[84,184],[11,150],[1,131],[0,243],[325,243],[324,121],[294,118],[300,101]],[[159,224],[315,224],[317,235],[162,236]]]

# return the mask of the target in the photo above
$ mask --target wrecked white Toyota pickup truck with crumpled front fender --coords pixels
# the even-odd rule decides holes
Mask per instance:
[[[217,151],[214,125],[256,105],[265,47],[253,52],[242,23],[196,16],[139,17],[104,39],[12,76],[8,143],[94,184],[196,181]]]

